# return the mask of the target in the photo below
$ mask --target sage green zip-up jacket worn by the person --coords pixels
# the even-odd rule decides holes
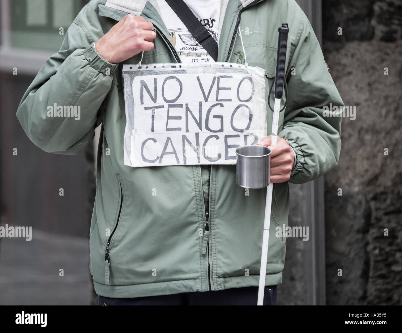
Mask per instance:
[[[247,193],[236,185],[234,165],[211,166],[209,247],[203,251],[206,209],[201,167],[124,164],[122,65],[137,64],[141,54],[110,64],[98,55],[94,42],[133,13],[144,16],[157,31],[155,48],[144,52],[142,64],[178,61],[152,5],[155,2],[92,0],[68,29],[60,51],[29,86],[16,115],[35,145],[57,154],[77,154],[91,143],[94,128],[103,124],[90,226],[90,272],[98,294],[139,297],[258,286],[266,189]],[[296,152],[289,182],[304,183],[338,163],[340,117],[324,117],[323,107],[343,105],[305,14],[294,0],[229,1],[219,34],[218,61],[244,62],[236,33],[240,23],[240,29],[248,31],[243,34],[248,65],[265,69],[268,96],[275,74],[277,31],[283,22],[290,28],[286,74],[294,75],[289,75],[287,107],[280,114],[278,134]],[[80,120],[48,117],[47,107],[55,103],[79,105]],[[268,111],[268,129],[271,122]],[[288,183],[277,183],[266,285],[282,280],[286,237],[276,237],[275,227],[287,226],[288,210]]]

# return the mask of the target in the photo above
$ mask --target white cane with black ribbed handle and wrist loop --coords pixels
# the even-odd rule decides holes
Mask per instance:
[[[275,70],[275,90],[274,90],[275,103],[274,103],[273,119],[272,119],[271,146],[274,146],[277,143],[279,112],[281,111],[280,110],[281,98],[283,95],[283,85],[285,83],[287,34],[289,33],[289,27],[287,23],[282,23],[282,27],[280,27],[278,31],[279,31],[279,38],[278,38],[278,52],[277,52],[277,62]],[[270,95],[268,95],[268,100],[269,98]],[[261,250],[260,283],[258,286],[257,305],[263,305],[264,301],[265,275],[267,273],[269,224],[271,222],[272,189],[273,189],[273,183],[270,182],[267,187],[267,200],[265,201],[263,247]]]

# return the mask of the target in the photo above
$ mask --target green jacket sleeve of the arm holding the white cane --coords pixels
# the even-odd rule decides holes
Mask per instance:
[[[341,117],[328,117],[323,107],[343,106],[317,37],[302,14],[304,25],[288,66],[294,66],[295,73],[288,82],[283,129],[278,134],[296,153],[289,179],[295,184],[316,179],[338,164]]]

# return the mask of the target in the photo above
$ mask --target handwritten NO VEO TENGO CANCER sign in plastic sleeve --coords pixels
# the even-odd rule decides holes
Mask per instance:
[[[264,70],[211,64],[124,65],[124,164],[235,164],[267,135]]]

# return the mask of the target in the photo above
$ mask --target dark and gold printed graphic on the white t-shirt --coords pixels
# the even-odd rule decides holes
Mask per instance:
[[[213,30],[215,19],[198,19],[212,37],[217,41],[217,32]],[[191,57],[191,62],[209,62],[211,57],[202,45],[197,44],[197,40],[188,29],[168,29],[172,43],[180,57]]]

